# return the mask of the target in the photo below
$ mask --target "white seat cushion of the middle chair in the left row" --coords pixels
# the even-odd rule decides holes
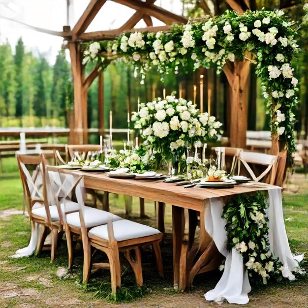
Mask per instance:
[[[111,214],[106,211],[93,209],[90,207],[85,207],[84,209],[85,209],[84,220],[86,228],[91,228],[98,226],[100,224],[105,224],[108,222],[109,217],[112,219],[112,221],[122,219],[120,216]],[[81,224],[80,224],[79,212],[66,215],[66,222],[71,226],[80,228]]]

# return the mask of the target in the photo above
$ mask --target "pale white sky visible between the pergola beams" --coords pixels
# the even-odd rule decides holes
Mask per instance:
[[[75,25],[89,0],[71,0],[69,10],[69,25]],[[156,0],[156,5],[181,15],[181,0]],[[88,31],[116,29],[122,26],[135,10],[108,0],[96,15]],[[4,16],[29,24],[31,26],[49,30],[62,31],[66,21],[66,0],[0,0],[0,17]],[[154,26],[163,25],[153,18]],[[143,21],[136,28],[145,27]],[[19,37],[23,38],[26,50],[35,55],[43,54],[48,62],[53,64],[61,49],[62,37],[53,36],[27,29],[16,22],[0,18],[0,41],[8,39],[11,46],[16,45]]]

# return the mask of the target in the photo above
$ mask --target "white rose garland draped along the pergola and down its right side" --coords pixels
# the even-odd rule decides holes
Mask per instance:
[[[106,66],[103,52],[109,57],[132,63],[142,76],[153,66],[162,74],[178,72],[179,66],[193,63],[194,69],[216,66],[221,71],[230,61],[244,58],[257,63],[256,73],[262,79],[264,96],[271,116],[271,131],[286,144],[289,154],[295,152],[294,114],[298,80],[293,76],[292,60],[298,52],[294,39],[298,26],[284,12],[226,11],[206,22],[174,25],[169,32],[123,33],[115,41],[86,45],[89,60]],[[257,60],[257,61],[256,61]]]

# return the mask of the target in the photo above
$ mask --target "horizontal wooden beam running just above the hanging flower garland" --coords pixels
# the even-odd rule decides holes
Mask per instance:
[[[157,31],[169,31],[169,26],[158,26],[158,27],[146,27],[146,28],[135,28],[127,30],[127,32],[157,32]],[[79,35],[78,39],[81,41],[91,41],[91,40],[104,40],[104,39],[114,39],[121,32],[121,28],[115,30],[107,30],[107,31],[94,31],[82,33]]]

